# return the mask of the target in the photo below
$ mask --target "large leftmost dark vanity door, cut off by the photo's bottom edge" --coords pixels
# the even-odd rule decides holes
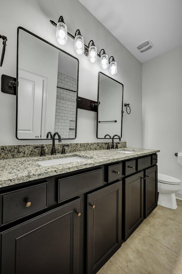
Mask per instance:
[[[1,274],[79,273],[80,199],[1,234]]]

